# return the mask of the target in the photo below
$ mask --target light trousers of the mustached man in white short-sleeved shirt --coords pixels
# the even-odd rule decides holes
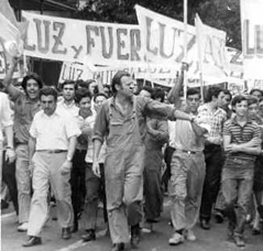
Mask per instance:
[[[36,152],[32,159],[33,198],[31,203],[28,236],[39,237],[48,217],[47,193],[50,184],[57,203],[57,219],[62,228],[73,226],[70,172],[61,174],[59,167],[66,160],[66,152]]]

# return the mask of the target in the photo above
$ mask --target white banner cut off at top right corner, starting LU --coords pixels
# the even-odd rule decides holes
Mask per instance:
[[[263,1],[262,0],[241,0],[241,26],[242,26],[242,47],[244,77],[249,83],[251,79],[263,79]],[[261,87],[262,80],[256,86]]]

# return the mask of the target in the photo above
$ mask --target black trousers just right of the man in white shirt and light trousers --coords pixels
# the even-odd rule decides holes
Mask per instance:
[[[85,156],[86,150],[76,150],[73,157],[73,170],[70,176],[70,185],[72,185],[72,204],[74,211],[74,222],[77,222],[78,215],[81,212],[81,208],[85,201],[85,172],[86,172],[86,163]]]

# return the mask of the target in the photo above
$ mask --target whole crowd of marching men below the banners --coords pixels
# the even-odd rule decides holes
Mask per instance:
[[[62,238],[85,226],[84,241],[96,240],[98,204],[103,205],[111,250],[140,244],[171,199],[171,245],[195,241],[199,221],[210,229],[212,211],[228,218],[227,236],[244,247],[244,227],[263,219],[263,91],[231,94],[188,88],[185,65],[176,85],[139,89],[127,72],[111,85],[64,81],[61,94],[36,74],[12,85],[14,59],[0,91],[0,156],[19,217],[28,232],[23,247],[42,243],[51,200]],[[4,140],[3,140],[4,139]],[[164,167],[165,166],[165,167]],[[251,209],[254,208],[254,209]]]

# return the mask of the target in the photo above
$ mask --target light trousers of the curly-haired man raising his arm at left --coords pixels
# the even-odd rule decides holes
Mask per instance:
[[[28,222],[31,204],[31,177],[29,171],[29,145],[19,144],[15,149],[15,178],[18,184],[19,222]]]

